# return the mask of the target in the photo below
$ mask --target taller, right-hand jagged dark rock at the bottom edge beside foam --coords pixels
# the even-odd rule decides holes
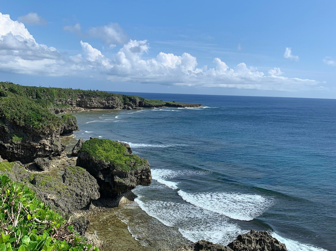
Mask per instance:
[[[234,251],[287,251],[286,245],[273,238],[267,232],[256,232],[239,235],[227,245]]]

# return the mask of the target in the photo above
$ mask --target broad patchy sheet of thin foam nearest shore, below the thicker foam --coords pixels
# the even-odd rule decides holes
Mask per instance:
[[[135,201],[148,215],[168,227],[176,227],[188,240],[196,242],[206,239],[214,243],[228,244],[237,235],[246,231],[227,220],[223,215],[209,212],[189,203],[147,200]]]

